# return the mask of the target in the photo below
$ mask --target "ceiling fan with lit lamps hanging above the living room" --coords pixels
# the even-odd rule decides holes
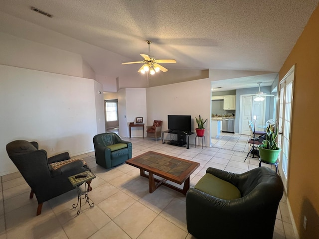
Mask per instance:
[[[149,44],[149,54],[141,54],[141,56],[144,58],[143,61],[133,61],[133,62],[124,62],[122,65],[126,64],[135,64],[135,63],[144,63],[143,66],[138,70],[138,72],[145,73],[149,72],[151,75],[154,75],[156,72],[162,71],[166,72],[167,69],[163,66],[161,66],[159,63],[176,63],[173,59],[166,59],[166,60],[156,60],[155,57],[150,56],[150,45],[152,41],[147,40],[146,41]]]

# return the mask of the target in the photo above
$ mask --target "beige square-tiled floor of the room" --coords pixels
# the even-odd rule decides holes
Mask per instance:
[[[126,138],[127,139],[127,138]],[[189,149],[132,138],[133,156],[149,150],[200,163],[191,175],[191,186],[208,167],[242,173],[258,167],[257,158],[248,157],[248,136],[223,133],[212,139],[213,147]],[[185,196],[166,187],[148,192],[148,179],[139,169],[122,164],[111,170],[95,163],[94,152],[81,155],[96,174],[89,197],[95,206],[82,206],[79,216],[72,204],[75,190],[43,204],[35,216],[36,199],[20,173],[1,177],[0,239],[194,239],[187,233]],[[270,166],[270,165],[265,165]],[[247,225],[249,227],[249,225]],[[286,197],[282,198],[275,225],[274,239],[294,239]]]

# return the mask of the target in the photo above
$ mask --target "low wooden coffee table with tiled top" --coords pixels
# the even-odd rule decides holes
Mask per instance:
[[[153,151],[143,153],[125,162],[139,168],[141,176],[149,178],[150,193],[153,193],[160,185],[164,185],[186,195],[189,189],[189,176],[199,167],[197,162]],[[147,175],[145,172],[149,172],[149,174]],[[154,178],[154,175],[162,179]],[[184,183],[184,187],[180,189],[165,183],[167,180],[180,185]]]

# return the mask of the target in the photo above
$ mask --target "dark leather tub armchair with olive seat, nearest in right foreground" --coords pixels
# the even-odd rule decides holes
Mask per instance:
[[[187,230],[196,239],[272,239],[284,186],[275,171],[208,168],[186,194]]]

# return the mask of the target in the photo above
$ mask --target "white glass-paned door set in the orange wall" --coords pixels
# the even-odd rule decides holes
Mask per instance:
[[[295,66],[293,66],[279,84],[279,117],[278,117],[278,145],[281,147],[279,155],[279,173],[287,192],[289,168],[290,130],[293,110],[293,84]]]

